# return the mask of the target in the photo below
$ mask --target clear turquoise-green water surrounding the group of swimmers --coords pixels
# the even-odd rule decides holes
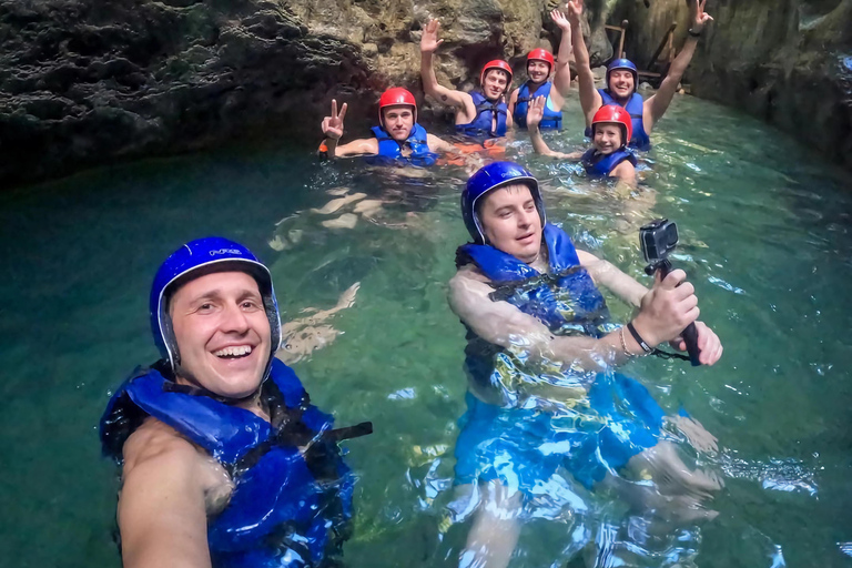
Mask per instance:
[[[581,143],[577,119],[566,114],[554,146]],[[842,551],[852,541],[850,184],[778,132],[691,98],[676,99],[652,141],[650,211],[564,164],[519,159],[542,180],[549,219],[639,278],[637,221],[656,213],[680,225],[677,264],[724,355],[712,368],[641,361],[627,372],[667,408],[688,408],[722,448],[704,458],[726,474],[712,504],[719,517],[690,528],[683,546],[697,547],[702,567],[781,557],[852,566]],[[510,155],[528,152],[526,141],[517,146]],[[346,559],[454,566],[469,523],[447,528],[442,507],[453,498],[464,412],[464,333],[445,294],[466,240],[465,178],[317,165],[304,148],[278,145],[106,168],[1,195],[0,566],[120,566],[118,480],[100,457],[98,419],[111,388],[156,356],[146,297],[158,264],[214,233],[270,264],[286,320],[331,308],[361,283],[355,304],[324,322],[341,334],[294,364],[339,424],[375,425],[347,443],[361,481]],[[384,200],[383,211],[373,222],[357,215],[351,230],[322,226],[339,213],[310,209],[342,187]],[[510,566],[565,566],[566,519],[526,525]]]

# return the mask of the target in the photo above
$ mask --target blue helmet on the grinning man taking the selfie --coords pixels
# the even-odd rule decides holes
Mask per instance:
[[[199,276],[211,272],[240,271],[257,282],[272,332],[270,342],[272,351],[263,375],[266,379],[272,367],[272,358],[281,345],[281,316],[275,291],[272,287],[272,275],[248,248],[221,236],[209,236],[186,243],[173,252],[156,271],[151,286],[150,307],[151,332],[160,354],[169,362],[172,371],[175,371],[181,362],[181,354],[178,351],[172,318],[169,316],[169,300],[176,290],[175,284],[191,280],[187,275],[195,271],[201,271]]]

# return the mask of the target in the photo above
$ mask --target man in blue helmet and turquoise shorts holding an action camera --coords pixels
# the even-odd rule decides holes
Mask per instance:
[[[469,565],[506,566],[519,510],[559,468],[588,489],[623,485],[621,471],[657,481],[663,494],[718,489],[712,474],[690,470],[660,433],[671,422],[697,448],[714,449],[714,438],[694,420],[665,416],[643,386],[612,372],[663,342],[683,349],[680,333],[692,322],[701,363],[719,359],[721,343],[696,321],[683,271],[658,276],[648,291],[576,250],[547,223],[536,179],[510,162],[468,180],[462,212],[473,242],[457,250],[449,283],[450,307],[467,329],[456,483],[489,499],[468,537]],[[599,285],[639,308],[626,326],[609,321]]]

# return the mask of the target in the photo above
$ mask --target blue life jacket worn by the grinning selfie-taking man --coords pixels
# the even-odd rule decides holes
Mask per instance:
[[[101,418],[103,453],[121,463],[124,442],[153,416],[225,467],[234,489],[207,523],[213,566],[315,567],[339,555],[354,479],[336,442],[353,436],[332,430],[332,416],[311,404],[293,369],[273,359],[261,390],[266,422],[166,379],[163,364],[154,367],[138,368],[110,399]]]

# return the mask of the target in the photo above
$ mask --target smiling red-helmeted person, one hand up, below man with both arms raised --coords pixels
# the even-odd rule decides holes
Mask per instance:
[[[538,97],[529,105],[527,123],[532,148],[539,154],[567,160],[580,160],[590,178],[616,178],[620,182],[636,185],[636,156],[627,149],[632,125],[630,114],[618,104],[606,104],[598,109],[591,121],[592,148],[585,153],[565,154],[548,148],[538,130],[545,109],[545,98]]]

